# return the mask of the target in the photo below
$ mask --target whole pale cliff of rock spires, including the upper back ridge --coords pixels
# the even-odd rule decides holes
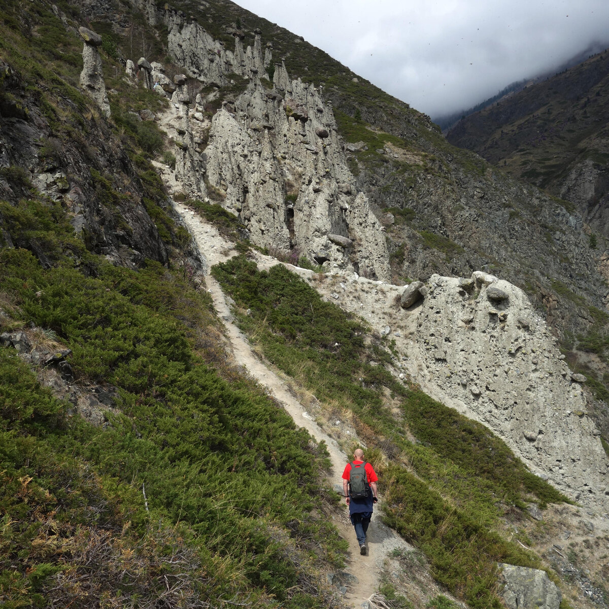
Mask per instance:
[[[262,54],[259,32],[253,48],[244,52],[236,36],[229,52],[195,21],[186,23],[175,12],[161,16],[169,25],[170,51],[192,76],[214,85],[229,76],[248,82],[211,122],[202,112],[217,93],[199,96],[190,111],[186,91],[173,94],[181,113],[177,171],[189,195],[216,199],[261,247],[387,280],[384,229],[356,187],[321,91],[290,80],[284,63],[275,64],[272,85],[261,80],[271,54]]]

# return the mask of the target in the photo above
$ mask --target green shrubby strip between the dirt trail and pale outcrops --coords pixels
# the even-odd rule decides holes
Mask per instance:
[[[387,346],[294,273],[258,272],[244,256],[213,273],[264,356],[331,404],[333,418],[354,421],[381,474],[387,523],[423,550],[437,581],[468,606],[500,607],[497,561],[540,565],[498,533],[503,518],[526,510],[527,501],[544,506],[565,497],[484,426],[397,381],[385,368]]]

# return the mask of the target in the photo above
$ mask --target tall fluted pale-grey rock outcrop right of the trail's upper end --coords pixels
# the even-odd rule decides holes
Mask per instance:
[[[295,80],[268,90],[252,79],[234,111],[214,116],[205,153],[209,183],[255,243],[311,259],[323,250],[329,267],[389,277],[381,225],[354,186],[331,107],[314,87]]]

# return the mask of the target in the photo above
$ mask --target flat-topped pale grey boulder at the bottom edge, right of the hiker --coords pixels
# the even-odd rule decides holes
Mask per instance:
[[[500,563],[505,586],[501,591],[509,609],[558,609],[562,595],[540,569]]]

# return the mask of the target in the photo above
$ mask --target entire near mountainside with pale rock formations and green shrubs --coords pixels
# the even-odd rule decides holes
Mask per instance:
[[[328,96],[327,82],[294,80],[288,44],[308,48],[294,35],[280,32],[286,62],[273,63],[234,5],[202,8],[39,1],[0,13],[2,602],[344,606],[357,557],[334,525],[345,516],[325,447],[244,374],[207,292],[219,297],[206,276],[222,262],[212,272],[233,310],[221,316],[267,359],[259,376],[287,375],[345,454],[366,446],[388,535],[418,548],[396,544],[369,606],[454,605],[446,592],[501,607],[499,563],[537,569],[554,600],[539,569],[577,606],[606,606],[602,411],[588,417],[583,379],[520,290],[431,275],[469,277],[487,256],[478,239],[498,256],[521,247],[540,284],[555,289],[557,273],[577,290],[560,284],[573,300],[552,309],[557,323],[585,327],[604,312],[580,218],[347,69]],[[522,206],[526,224],[498,244],[499,202]],[[184,214],[214,227],[195,244]],[[564,231],[579,275],[537,243],[538,217]],[[464,222],[480,237],[462,236]],[[420,259],[392,266],[399,247]],[[382,280],[413,269],[423,298],[402,305],[403,287]],[[497,272],[518,269],[497,260]],[[585,507],[565,505],[576,500]],[[564,562],[551,550],[566,534],[557,514],[573,532]]]

